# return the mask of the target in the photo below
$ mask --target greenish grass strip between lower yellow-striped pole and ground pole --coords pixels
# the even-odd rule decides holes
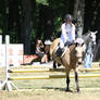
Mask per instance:
[[[60,88],[65,89],[66,83],[65,78],[63,79],[42,79],[42,80],[14,80],[13,83],[20,89],[42,89],[42,88]],[[80,88],[100,88],[100,78],[79,78]],[[75,80],[71,79],[71,88],[75,89]]]

